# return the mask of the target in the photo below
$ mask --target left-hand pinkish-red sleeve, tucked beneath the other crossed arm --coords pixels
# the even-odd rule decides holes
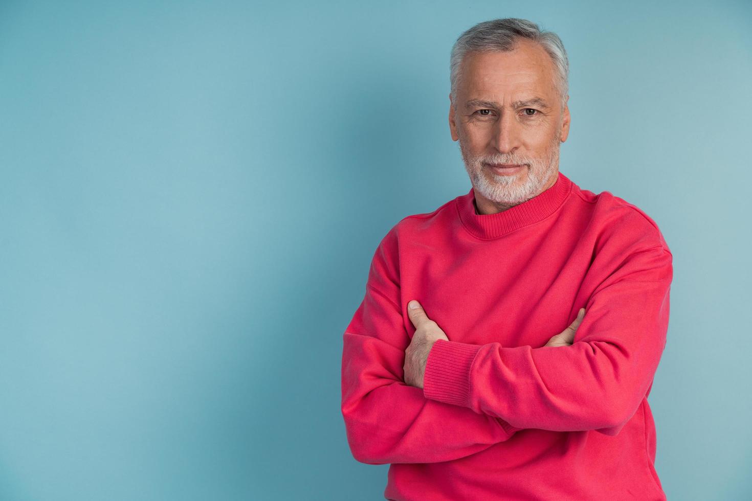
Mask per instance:
[[[426,399],[421,388],[405,384],[411,339],[398,306],[395,228],[374,254],[365,297],[344,332],[341,412],[350,451],[367,464],[435,463],[475,454],[518,429],[483,412]]]

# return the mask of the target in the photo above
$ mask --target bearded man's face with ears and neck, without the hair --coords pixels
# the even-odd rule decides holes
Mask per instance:
[[[463,59],[456,103],[450,95],[449,125],[478,212],[501,212],[556,182],[569,107],[554,75],[550,56],[528,40],[509,52],[468,53]],[[495,167],[500,165],[516,167]]]

